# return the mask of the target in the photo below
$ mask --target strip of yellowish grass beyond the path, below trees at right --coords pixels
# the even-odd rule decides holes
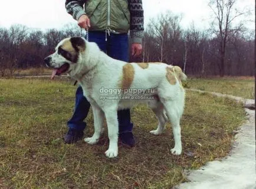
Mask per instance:
[[[254,77],[191,78],[188,81],[188,87],[249,99],[255,98]]]

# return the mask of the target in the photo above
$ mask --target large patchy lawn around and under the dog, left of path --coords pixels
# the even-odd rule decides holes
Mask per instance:
[[[183,152],[170,153],[170,124],[161,136],[149,134],[155,115],[132,109],[136,147],[119,144],[110,160],[106,131],[97,145],[66,145],[62,137],[74,107],[71,81],[0,80],[0,188],[172,188],[186,181],[183,170],[221,158],[231,148],[232,131],[245,120],[241,104],[188,91],[181,121]],[[85,137],[93,134],[88,115]]]

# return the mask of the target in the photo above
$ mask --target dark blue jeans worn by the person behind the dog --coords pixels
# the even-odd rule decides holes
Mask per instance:
[[[89,32],[89,41],[96,42],[101,51],[105,52],[110,57],[125,62],[129,61],[127,34],[110,34],[110,36],[107,35],[106,41],[105,32]],[[84,97],[83,89],[79,86],[76,91],[74,114],[67,123],[68,127],[83,131],[84,128],[86,128],[84,119],[87,117],[89,109],[90,103],[87,101],[86,97]],[[119,134],[132,132],[133,124],[130,121],[130,110],[117,111],[117,118],[119,121]]]

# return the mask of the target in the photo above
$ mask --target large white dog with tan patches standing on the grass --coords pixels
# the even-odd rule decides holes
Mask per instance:
[[[94,134],[84,138],[88,144],[99,141],[104,115],[107,120],[109,149],[107,157],[117,157],[117,110],[147,103],[159,121],[151,134],[159,135],[168,116],[175,139],[171,152],[180,155],[180,117],[185,104],[185,90],[181,81],[186,79],[179,67],[160,62],[127,63],[107,56],[99,47],[84,38],[72,37],[61,41],[56,52],[44,59],[55,75],[67,73],[83,88],[84,96],[93,108]],[[145,117],[146,118],[146,117]]]

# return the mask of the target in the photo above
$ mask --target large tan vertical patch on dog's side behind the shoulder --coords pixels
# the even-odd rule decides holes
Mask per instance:
[[[134,78],[134,68],[132,64],[125,64],[123,66],[122,89],[130,88]]]

